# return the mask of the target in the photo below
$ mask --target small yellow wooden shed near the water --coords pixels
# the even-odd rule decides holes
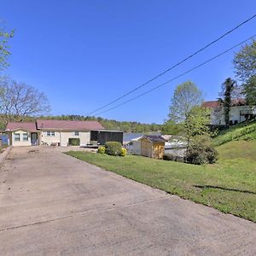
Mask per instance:
[[[143,136],[141,142],[141,155],[155,159],[163,159],[166,139],[161,136]]]

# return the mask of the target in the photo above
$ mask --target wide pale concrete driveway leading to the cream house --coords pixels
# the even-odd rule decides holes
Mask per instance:
[[[256,224],[62,154],[14,148],[0,171],[1,255],[256,255]]]

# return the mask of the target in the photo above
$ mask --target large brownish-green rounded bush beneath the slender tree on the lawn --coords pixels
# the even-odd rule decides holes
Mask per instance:
[[[213,164],[218,160],[218,152],[212,145],[192,144],[186,151],[185,160],[189,164]]]

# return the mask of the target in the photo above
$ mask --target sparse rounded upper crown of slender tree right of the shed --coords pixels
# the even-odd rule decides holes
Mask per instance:
[[[172,96],[169,118],[175,123],[187,119],[189,111],[195,106],[200,106],[203,101],[202,92],[191,81],[177,85]]]

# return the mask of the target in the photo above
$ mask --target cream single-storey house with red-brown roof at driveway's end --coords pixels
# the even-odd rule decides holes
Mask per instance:
[[[79,138],[79,145],[86,146],[91,144],[93,131],[104,131],[104,127],[97,121],[44,119],[38,119],[35,123],[9,123],[6,127],[9,144],[13,146],[40,144],[67,146],[70,138]]]

